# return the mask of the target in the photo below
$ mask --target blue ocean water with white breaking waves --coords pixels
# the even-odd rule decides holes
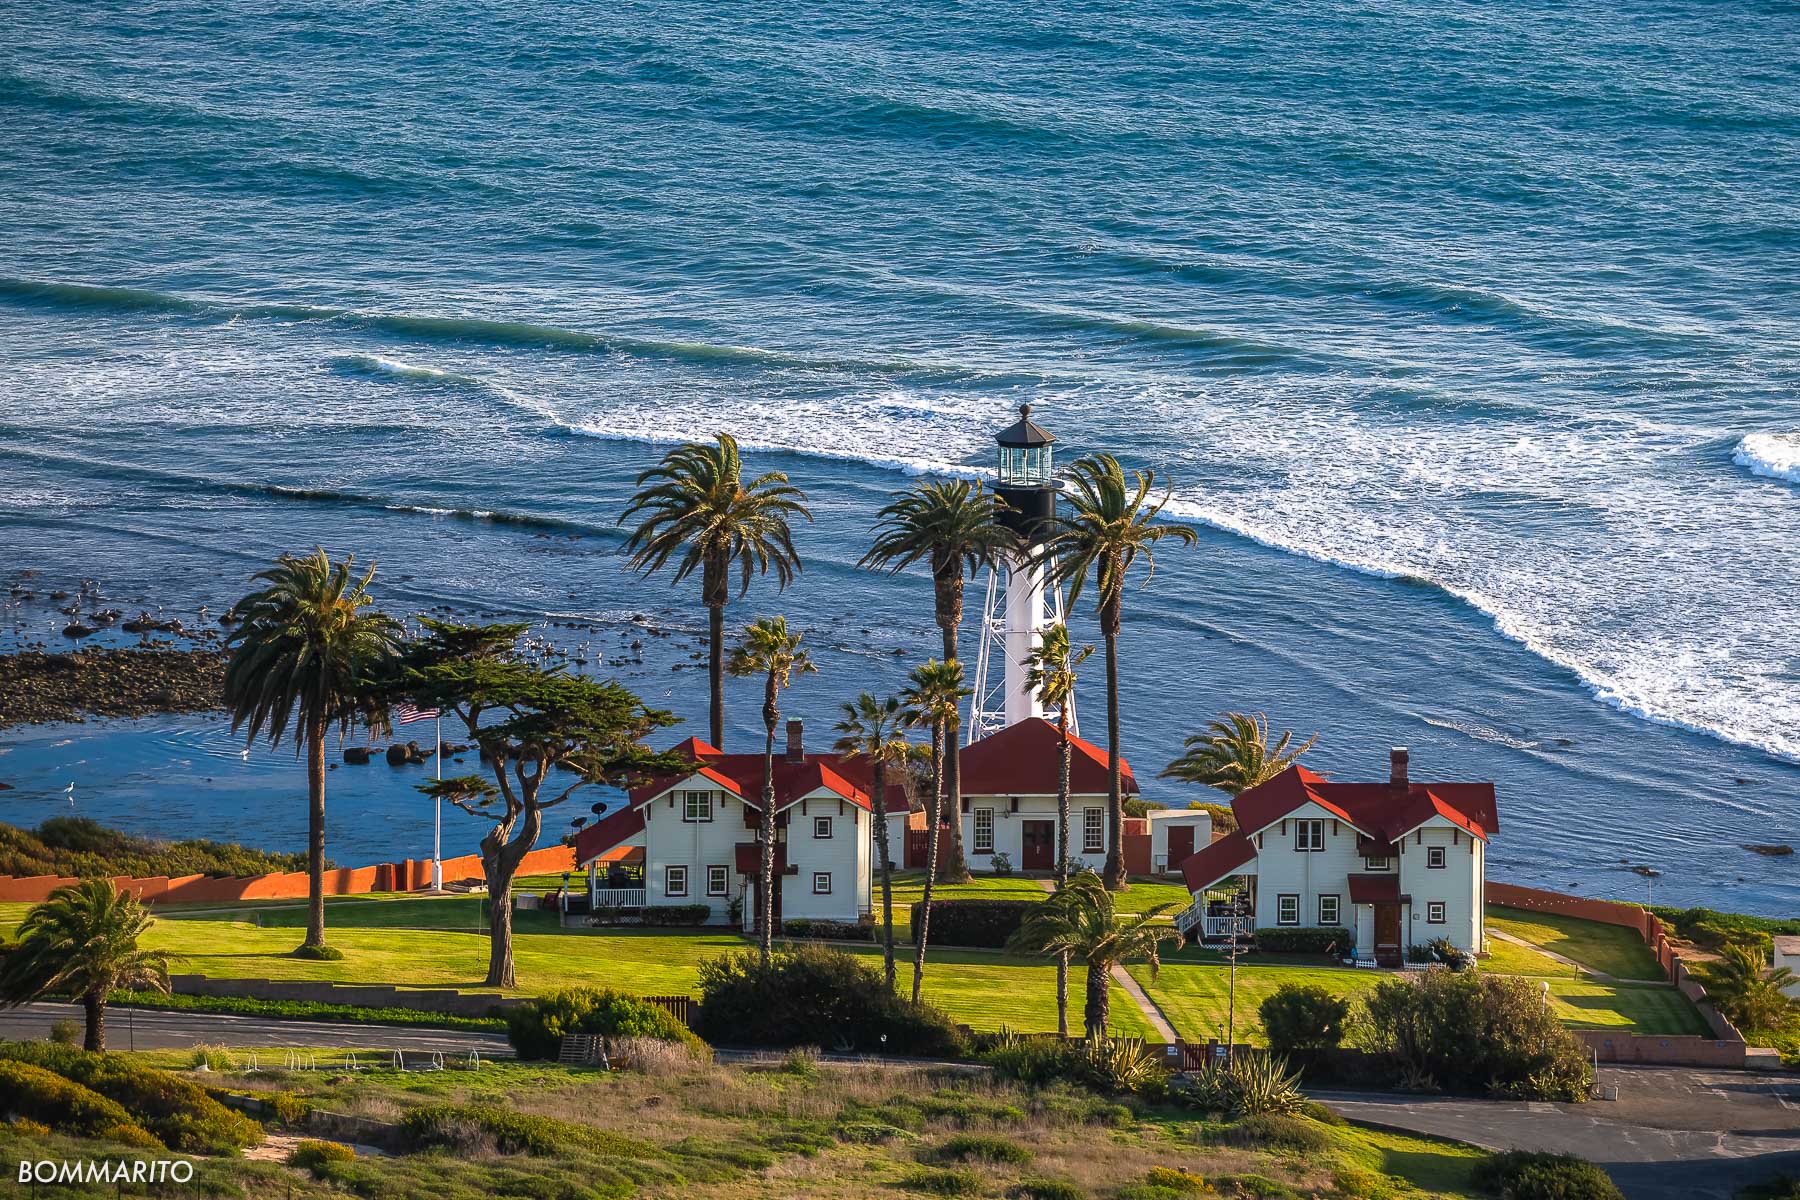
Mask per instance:
[[[1267,711],[1339,777],[1494,779],[1498,878],[1793,910],[1742,846],[1800,842],[1796,63],[1732,0],[27,5],[0,574],[193,622],[322,543],[700,720],[704,613],[616,518],[731,430],[814,497],[733,619],[812,631],[817,741],[934,646],[875,509],[1030,401],[1202,527],[1129,599],[1139,777]],[[302,828],[205,718],[11,730],[0,779]],[[416,783],[333,774],[333,855],[425,853]]]

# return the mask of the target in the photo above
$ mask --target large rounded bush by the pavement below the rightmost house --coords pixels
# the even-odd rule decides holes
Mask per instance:
[[[1395,1078],[1510,1099],[1588,1099],[1586,1049],[1525,979],[1433,966],[1382,979],[1364,1006],[1368,1049],[1390,1060]]]

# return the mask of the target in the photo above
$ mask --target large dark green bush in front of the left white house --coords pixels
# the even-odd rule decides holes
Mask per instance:
[[[887,988],[880,966],[830,946],[779,950],[761,963],[727,954],[700,964],[698,1033],[736,1045],[959,1058],[967,1042],[929,1004]]]

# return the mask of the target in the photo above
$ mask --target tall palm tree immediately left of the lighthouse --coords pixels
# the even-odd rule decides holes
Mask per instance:
[[[1019,549],[1019,536],[1001,524],[1004,504],[979,482],[931,480],[900,493],[880,511],[875,545],[862,556],[862,567],[900,572],[916,561],[931,565],[938,630],[943,633],[943,660],[954,662],[956,635],[963,626],[963,581],[983,567],[994,567]],[[950,797],[950,855],[943,878],[968,880],[963,855],[963,766],[956,747],[945,761],[945,792]]]

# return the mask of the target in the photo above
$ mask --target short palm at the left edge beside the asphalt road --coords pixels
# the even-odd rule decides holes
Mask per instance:
[[[0,999],[25,1004],[45,995],[70,995],[86,1013],[90,1051],[106,1049],[106,997],[119,988],[169,990],[169,955],[140,950],[149,914],[112,880],[58,887],[25,914],[18,945],[0,973]]]

